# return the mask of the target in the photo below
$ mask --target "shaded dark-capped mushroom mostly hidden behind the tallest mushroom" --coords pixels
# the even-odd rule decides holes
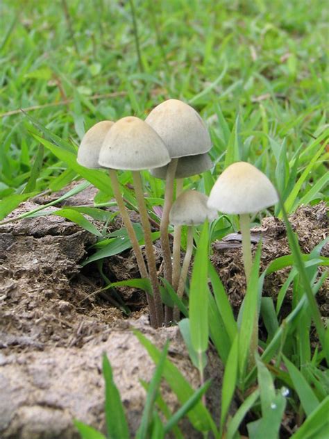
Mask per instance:
[[[208,171],[213,166],[212,160],[208,153],[198,154],[197,156],[186,156],[178,158],[178,165],[176,168],[176,197],[183,192],[183,179],[201,172]],[[168,165],[156,167],[151,169],[151,175],[157,179],[166,179]],[[174,226],[174,244],[173,244],[173,259],[172,259],[172,284],[174,290],[178,288],[178,281],[180,276],[180,241],[181,241],[182,226]]]

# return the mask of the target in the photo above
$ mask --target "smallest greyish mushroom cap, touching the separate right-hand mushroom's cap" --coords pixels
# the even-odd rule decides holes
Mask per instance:
[[[169,221],[174,226],[197,226],[217,217],[217,210],[207,206],[208,197],[197,190],[185,190],[171,207]]]

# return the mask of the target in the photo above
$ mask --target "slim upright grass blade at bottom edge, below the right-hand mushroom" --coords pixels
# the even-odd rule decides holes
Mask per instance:
[[[228,415],[228,409],[233,399],[235,392],[235,386],[237,383],[237,370],[238,370],[238,335],[235,336],[235,340],[228,354],[228,361],[223,375],[223,388],[221,390],[221,431]]]

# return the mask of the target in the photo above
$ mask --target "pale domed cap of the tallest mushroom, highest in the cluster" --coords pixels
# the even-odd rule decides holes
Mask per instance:
[[[210,135],[200,115],[178,99],[160,103],[145,122],[160,135],[171,158],[204,154],[211,148]]]

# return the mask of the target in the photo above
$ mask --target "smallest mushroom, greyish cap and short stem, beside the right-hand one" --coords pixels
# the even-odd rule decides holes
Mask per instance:
[[[171,207],[169,221],[174,226],[187,226],[187,245],[183,267],[178,282],[177,295],[181,299],[185,288],[189,263],[193,252],[193,226],[203,224],[206,219],[212,221],[217,216],[217,210],[207,206],[208,197],[196,190],[185,190]],[[174,309],[174,320],[178,320],[179,310]]]

